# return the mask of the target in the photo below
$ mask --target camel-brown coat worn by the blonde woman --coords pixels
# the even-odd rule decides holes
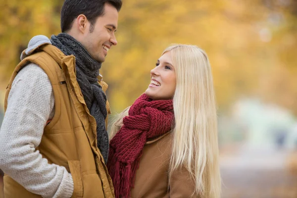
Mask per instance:
[[[169,180],[172,134],[148,141],[136,172],[131,198],[190,198],[194,183],[185,169],[175,171]],[[169,191],[168,191],[169,186]]]

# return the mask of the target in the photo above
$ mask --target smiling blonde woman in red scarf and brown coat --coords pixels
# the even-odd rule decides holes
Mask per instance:
[[[219,198],[217,118],[202,49],[173,45],[146,93],[111,129],[108,171],[116,198]]]

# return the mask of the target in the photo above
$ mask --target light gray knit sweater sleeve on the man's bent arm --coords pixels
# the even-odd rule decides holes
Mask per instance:
[[[70,198],[73,180],[65,167],[49,164],[35,148],[54,107],[47,74],[30,63],[12,83],[0,128],[0,169],[43,198]]]

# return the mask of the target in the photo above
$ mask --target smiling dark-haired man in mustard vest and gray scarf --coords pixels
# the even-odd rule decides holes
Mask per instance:
[[[109,104],[99,69],[117,44],[121,0],[65,0],[62,33],[36,36],[5,96],[5,198],[112,198],[105,163]]]

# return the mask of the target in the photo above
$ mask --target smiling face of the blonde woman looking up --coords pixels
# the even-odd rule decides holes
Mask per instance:
[[[150,71],[150,84],[146,94],[153,100],[172,99],[176,87],[175,68],[171,52],[165,52]]]

